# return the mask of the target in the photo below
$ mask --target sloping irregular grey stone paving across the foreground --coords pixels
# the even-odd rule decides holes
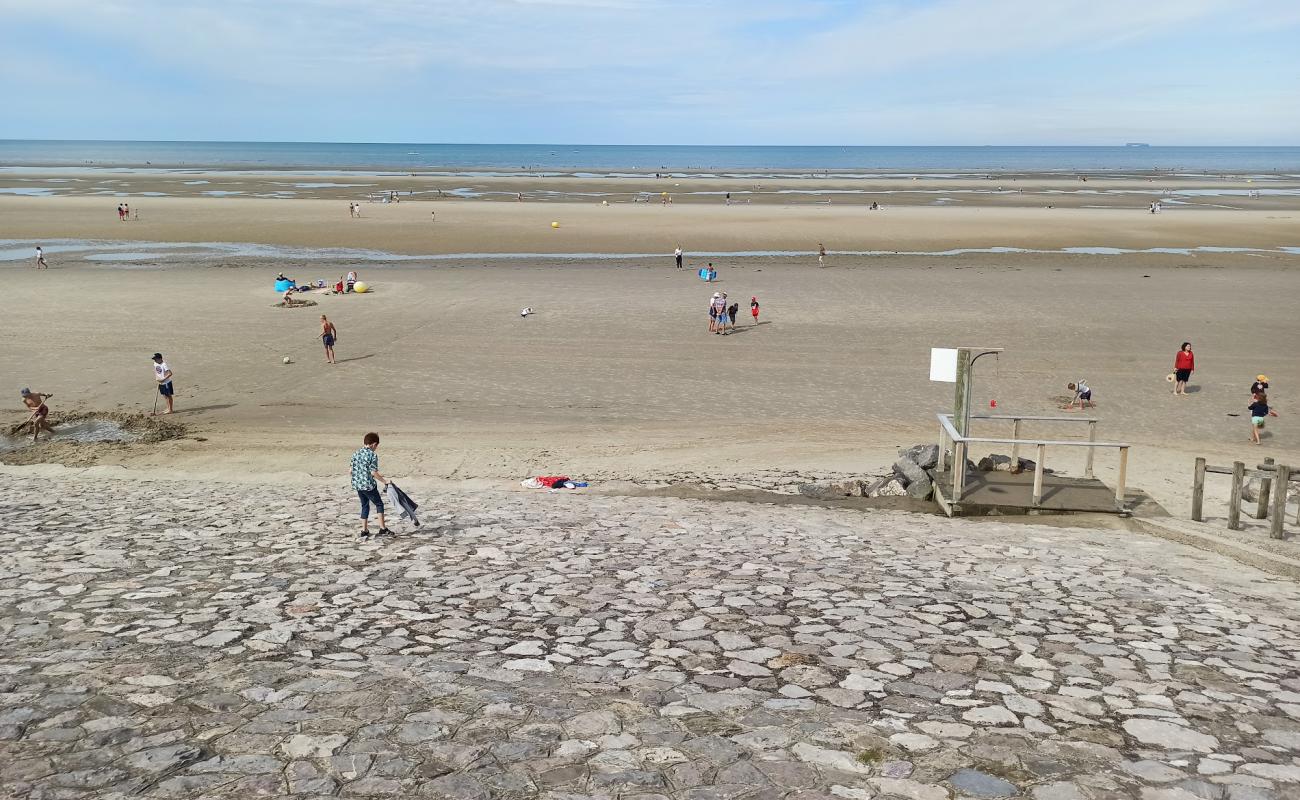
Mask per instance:
[[[1300,797],[1296,585],[1140,535],[0,481],[5,797]]]

